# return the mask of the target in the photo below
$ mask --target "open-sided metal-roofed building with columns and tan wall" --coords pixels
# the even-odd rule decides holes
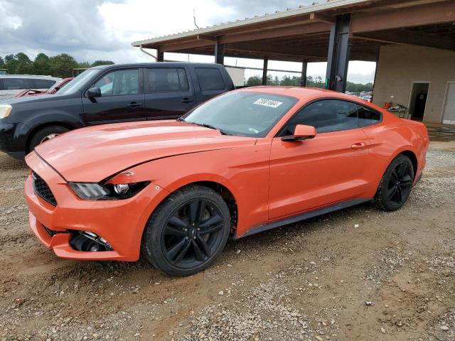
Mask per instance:
[[[156,49],[158,61],[165,52],[259,58],[265,76],[268,60],[301,62],[302,80],[308,63],[326,61],[326,87],[341,92],[349,60],[374,61],[373,102],[455,124],[455,0],[332,0],[132,45]]]

